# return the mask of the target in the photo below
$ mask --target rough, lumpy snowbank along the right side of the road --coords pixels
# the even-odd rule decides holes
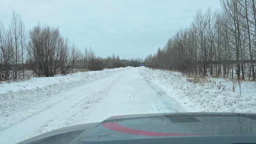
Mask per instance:
[[[189,82],[180,72],[145,67],[140,71],[188,112],[256,112],[256,82],[243,81],[240,95],[238,82],[227,79],[209,78],[210,82],[201,84]]]

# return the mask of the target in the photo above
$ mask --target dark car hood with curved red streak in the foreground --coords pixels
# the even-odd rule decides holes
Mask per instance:
[[[115,116],[70,126],[19,144],[252,144],[256,114],[177,113]]]

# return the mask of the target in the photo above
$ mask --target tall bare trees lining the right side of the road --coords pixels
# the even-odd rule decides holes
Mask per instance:
[[[146,66],[185,74],[256,79],[255,0],[220,0],[221,9],[197,10]]]

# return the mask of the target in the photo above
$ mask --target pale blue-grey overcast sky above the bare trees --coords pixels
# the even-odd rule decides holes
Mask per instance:
[[[219,9],[219,0],[1,0],[0,21],[8,25],[15,10],[27,29],[38,22],[59,27],[81,50],[146,57],[209,6]]]

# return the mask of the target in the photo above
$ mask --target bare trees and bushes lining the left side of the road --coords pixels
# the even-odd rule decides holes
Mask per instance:
[[[55,27],[37,24],[26,31],[16,12],[9,26],[0,22],[0,81],[24,79],[26,71],[33,71],[36,77],[53,77],[73,69],[97,71],[137,66],[141,61],[120,60],[115,55],[101,58],[87,48],[82,52]]]

